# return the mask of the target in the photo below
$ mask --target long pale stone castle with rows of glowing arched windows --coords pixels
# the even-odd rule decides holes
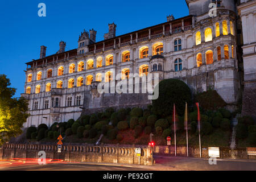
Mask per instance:
[[[84,30],[76,49],[65,51],[66,43],[61,41],[59,51],[49,56],[47,47],[41,46],[40,59],[26,63],[22,96],[29,101],[31,115],[24,127],[77,119],[82,112],[106,107],[151,104],[145,93],[98,93],[97,84],[109,82],[117,73],[122,78],[159,73],[160,80],[184,81],[193,93],[214,89],[235,105],[242,97],[243,82],[240,2],[186,2],[189,15],[179,19],[168,15],[164,23],[119,36],[115,36],[117,25],[111,23],[100,42],[95,30]],[[210,3],[216,4],[214,16],[209,15]]]

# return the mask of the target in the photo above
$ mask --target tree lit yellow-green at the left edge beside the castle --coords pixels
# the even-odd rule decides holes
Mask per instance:
[[[0,145],[10,137],[22,134],[23,123],[28,118],[27,100],[13,98],[16,89],[10,88],[10,85],[10,79],[0,75]]]

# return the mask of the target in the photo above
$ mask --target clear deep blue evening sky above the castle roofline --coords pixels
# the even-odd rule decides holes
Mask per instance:
[[[38,16],[38,4],[46,4],[46,17]],[[2,1],[0,6],[0,74],[7,75],[15,97],[24,93],[26,64],[39,59],[40,46],[46,56],[67,43],[66,51],[77,48],[81,31],[94,28],[96,41],[103,40],[108,23],[117,24],[116,36],[188,15],[185,0],[168,1]]]

